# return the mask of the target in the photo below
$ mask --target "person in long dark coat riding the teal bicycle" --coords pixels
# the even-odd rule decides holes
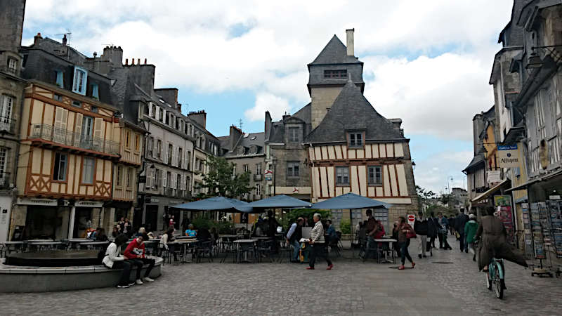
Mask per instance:
[[[478,249],[478,270],[488,271],[492,258],[505,259],[523,267],[528,267],[521,251],[507,243],[507,232],[502,220],[494,216],[494,208],[489,207],[488,215],[481,218],[475,239],[481,238]]]

